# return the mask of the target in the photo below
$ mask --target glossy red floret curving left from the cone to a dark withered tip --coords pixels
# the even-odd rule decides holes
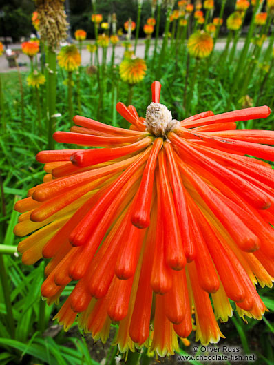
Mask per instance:
[[[114,160],[115,158],[132,154],[140,149],[144,149],[152,142],[152,137],[144,138],[136,143],[128,146],[117,148],[103,148],[103,149],[85,149],[76,152],[70,157],[70,160],[77,167],[87,167],[89,165],[96,165],[105,161]]]

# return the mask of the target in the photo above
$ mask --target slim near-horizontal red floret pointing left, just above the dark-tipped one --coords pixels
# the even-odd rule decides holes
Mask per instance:
[[[92,136],[91,134],[81,134],[81,133],[72,133],[72,132],[55,132],[53,135],[54,140],[59,143],[71,143],[72,145],[81,145],[81,146],[101,146],[108,147],[117,145],[123,146],[127,143],[135,143],[141,138],[145,138],[147,133],[143,133],[137,136],[129,136],[129,137],[101,137],[101,136]]]

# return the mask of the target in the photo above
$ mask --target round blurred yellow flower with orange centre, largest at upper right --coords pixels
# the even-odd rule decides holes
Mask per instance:
[[[191,56],[203,59],[211,54],[213,50],[213,39],[206,32],[199,30],[189,37],[187,49]]]

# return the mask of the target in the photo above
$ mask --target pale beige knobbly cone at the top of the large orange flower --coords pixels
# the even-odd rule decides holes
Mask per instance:
[[[180,125],[180,122],[172,119],[171,112],[167,107],[160,103],[149,104],[144,123],[147,131],[156,137],[166,136],[168,132],[172,132]]]

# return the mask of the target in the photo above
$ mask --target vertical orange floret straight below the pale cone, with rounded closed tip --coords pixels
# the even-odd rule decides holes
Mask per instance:
[[[158,294],[165,294],[171,289],[172,277],[171,269],[167,266],[165,259],[164,232],[162,227],[163,212],[161,202],[160,177],[156,170],[157,185],[157,225],[156,225],[156,242],[155,252],[153,255],[153,264],[151,271],[151,288]]]

